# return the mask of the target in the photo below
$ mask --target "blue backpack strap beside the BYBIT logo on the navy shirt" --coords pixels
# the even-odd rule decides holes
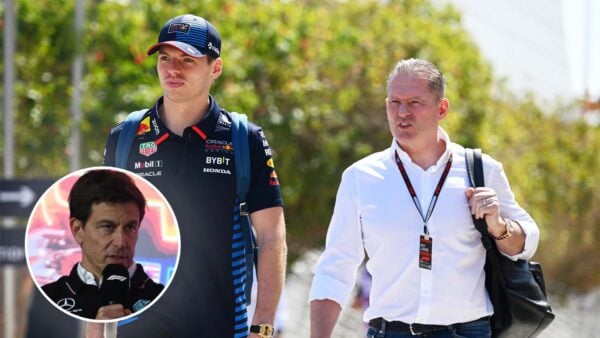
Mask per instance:
[[[250,187],[250,144],[248,142],[248,117],[245,114],[231,112],[231,140],[235,158],[237,197],[240,203],[240,225],[244,237],[244,247],[246,248],[246,286],[244,291],[246,305],[250,305],[254,279],[253,268],[258,260],[258,247],[252,231],[248,206],[246,205]]]

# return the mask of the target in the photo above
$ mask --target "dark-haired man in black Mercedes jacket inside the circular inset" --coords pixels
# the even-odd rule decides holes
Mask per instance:
[[[61,309],[91,319],[121,318],[148,305],[164,286],[133,260],[145,207],[144,195],[122,171],[96,169],[81,176],[69,194],[69,225],[82,258],[68,276],[44,285],[44,293]],[[129,274],[126,301],[106,304],[102,283],[110,283],[103,280],[109,264],[127,269],[124,276],[107,278],[127,282]]]

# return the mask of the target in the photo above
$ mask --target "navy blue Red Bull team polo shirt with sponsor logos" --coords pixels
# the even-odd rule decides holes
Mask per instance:
[[[160,105],[162,98],[142,119],[127,169],[151,181],[169,200],[181,234],[180,261],[161,299],[140,319],[119,327],[119,337],[244,337],[245,306],[234,296],[232,277],[236,172],[230,115],[211,97],[205,118],[178,136],[161,122]],[[115,165],[121,128],[111,130],[105,165]],[[248,131],[248,210],[282,206],[267,139],[252,123]]]

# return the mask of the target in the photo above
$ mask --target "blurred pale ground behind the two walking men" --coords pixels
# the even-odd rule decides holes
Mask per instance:
[[[286,283],[287,330],[284,338],[309,337],[308,290],[313,269],[319,257],[318,251],[307,252],[290,267]],[[552,300],[552,298],[551,298]],[[565,304],[555,304],[556,319],[540,338],[599,337],[600,338],[600,288],[584,296],[572,296]],[[333,338],[359,338],[362,321],[357,310],[346,306]]]

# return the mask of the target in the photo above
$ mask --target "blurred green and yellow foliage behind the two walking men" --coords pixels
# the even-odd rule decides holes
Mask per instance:
[[[346,166],[391,143],[387,75],[398,60],[419,57],[446,76],[451,110],[443,125],[452,139],[502,161],[517,199],[538,220],[536,259],[549,287],[600,284],[598,127],[570,107],[541,107],[503,89],[453,8],[425,0],[97,0],[87,1],[77,45],[74,7],[73,0],[16,0],[18,176],[68,171],[75,53],[85,59],[87,167],[101,164],[112,126],[160,96],[155,58],[145,54],[160,27],[194,13],[223,40],[214,96],[263,126],[274,148],[292,258],[323,245]]]

